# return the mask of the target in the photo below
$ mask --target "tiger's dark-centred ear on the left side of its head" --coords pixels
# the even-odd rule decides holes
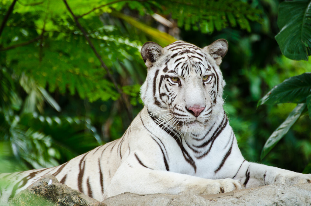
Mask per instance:
[[[142,45],[140,53],[146,66],[150,68],[152,64],[162,56],[163,48],[155,42],[146,42]]]

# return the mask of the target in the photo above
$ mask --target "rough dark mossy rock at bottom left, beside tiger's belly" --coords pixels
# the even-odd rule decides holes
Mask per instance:
[[[13,202],[20,206],[104,206],[99,201],[58,183],[53,175],[43,176],[17,194]]]

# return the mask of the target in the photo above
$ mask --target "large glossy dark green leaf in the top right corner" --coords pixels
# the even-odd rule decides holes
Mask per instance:
[[[282,2],[277,24],[280,32],[275,39],[283,55],[294,60],[308,61],[311,54],[311,1]]]

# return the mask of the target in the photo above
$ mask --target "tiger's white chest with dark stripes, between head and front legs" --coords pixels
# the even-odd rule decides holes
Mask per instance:
[[[235,152],[232,148],[235,148],[236,140],[229,124],[226,127],[223,123],[221,131],[218,127],[211,128],[211,134],[202,131],[202,135],[193,139],[173,127],[142,118],[146,117],[144,111],[138,117],[140,123],[130,127],[129,142],[131,153],[139,156],[146,167],[208,179],[226,178],[230,174],[226,171],[224,176],[218,169],[224,161],[234,161],[230,155]],[[230,154],[227,154],[229,149]]]

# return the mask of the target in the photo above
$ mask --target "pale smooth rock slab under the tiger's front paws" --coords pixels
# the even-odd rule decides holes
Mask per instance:
[[[137,195],[125,193],[107,198],[102,203],[107,206],[118,205],[154,205],[154,206],[190,206],[190,205],[311,205],[311,184],[267,185],[253,189],[234,190],[217,195]]]

